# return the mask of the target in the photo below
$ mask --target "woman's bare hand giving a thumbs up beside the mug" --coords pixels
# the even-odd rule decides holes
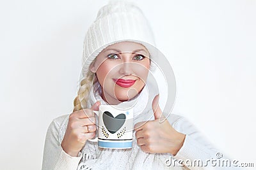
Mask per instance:
[[[155,120],[134,125],[137,144],[148,153],[171,153],[176,155],[182,147],[185,135],[173,129],[159,108],[159,95],[152,101]]]

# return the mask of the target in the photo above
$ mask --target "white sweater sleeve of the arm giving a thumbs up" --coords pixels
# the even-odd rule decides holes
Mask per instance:
[[[189,165],[189,169],[234,169],[232,160],[223,155],[223,152],[217,150],[212,143],[210,143],[205,136],[199,132],[195,125],[191,124],[186,118],[179,117],[173,123],[173,128],[186,135],[184,144],[180,148],[179,152],[173,156],[174,159],[183,160],[184,166]],[[219,166],[219,162],[222,160],[230,160],[230,166]],[[199,162],[202,160],[201,162]],[[211,163],[211,160],[216,162]],[[196,164],[193,164],[193,163]],[[199,162],[199,163],[198,163]]]

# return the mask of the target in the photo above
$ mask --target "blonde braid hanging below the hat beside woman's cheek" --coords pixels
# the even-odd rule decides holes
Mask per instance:
[[[93,85],[93,76],[92,71],[88,71],[84,78],[80,82],[80,88],[77,92],[77,96],[74,99],[74,111],[83,110],[84,107],[87,107],[87,101],[90,89]]]

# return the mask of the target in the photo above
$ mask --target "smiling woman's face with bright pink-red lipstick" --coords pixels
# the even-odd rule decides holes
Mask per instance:
[[[97,74],[102,99],[109,104],[118,104],[141,92],[149,67],[149,53],[145,46],[124,41],[102,50],[90,70]]]

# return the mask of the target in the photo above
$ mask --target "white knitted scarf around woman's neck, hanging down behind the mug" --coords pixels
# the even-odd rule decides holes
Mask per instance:
[[[96,101],[106,103],[101,97],[99,82],[96,82],[90,90],[88,108]],[[140,94],[130,101],[120,104],[134,106],[134,124],[145,120],[154,120],[152,100],[158,94],[156,85],[147,81]],[[97,118],[96,118],[97,119]],[[99,148],[97,143],[86,141],[81,150],[83,158],[79,162],[77,170],[82,169],[182,169],[181,167],[168,167],[166,160],[170,159],[168,153],[145,153],[136,143],[135,131],[133,132],[132,148],[107,149]]]

